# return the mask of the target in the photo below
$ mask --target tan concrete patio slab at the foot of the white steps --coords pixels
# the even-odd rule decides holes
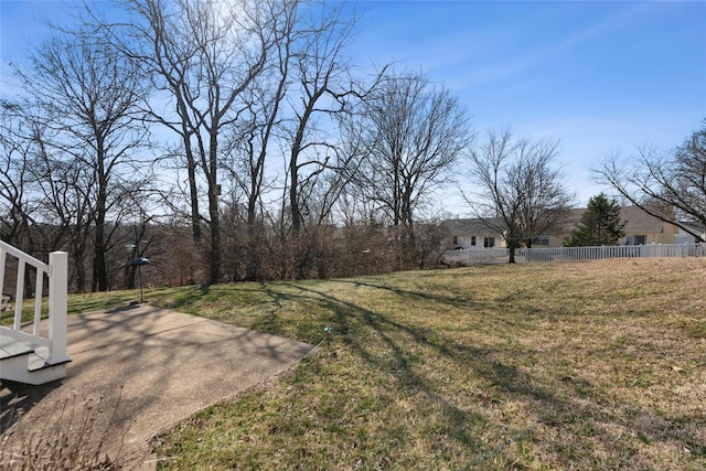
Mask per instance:
[[[108,426],[110,442],[138,447],[196,410],[290,367],[312,349],[148,304],[71,315],[66,377],[43,386],[3,385],[0,435],[18,421],[18,411],[26,427],[56,415],[56,405],[66,399],[101,398],[105,416],[116,413]]]

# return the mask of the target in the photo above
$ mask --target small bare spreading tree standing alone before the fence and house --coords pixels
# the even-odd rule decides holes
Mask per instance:
[[[564,221],[574,196],[554,167],[558,148],[549,141],[513,140],[512,132],[488,131],[470,153],[467,176],[473,191],[463,199],[483,224],[502,234],[510,263],[522,244],[532,245]]]

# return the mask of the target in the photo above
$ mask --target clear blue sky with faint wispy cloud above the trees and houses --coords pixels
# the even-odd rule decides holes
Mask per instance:
[[[422,69],[473,116],[475,129],[561,142],[585,205],[603,189],[591,164],[639,144],[672,148],[706,117],[704,1],[361,1],[351,50],[363,66]],[[66,2],[0,0],[7,62],[66,19]],[[447,200],[448,201],[448,200]],[[447,207],[463,214],[462,208]]]

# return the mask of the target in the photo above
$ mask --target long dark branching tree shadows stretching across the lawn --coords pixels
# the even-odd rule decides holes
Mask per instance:
[[[335,282],[340,281],[336,280]],[[421,300],[440,303],[449,308],[472,307],[474,309],[490,309],[490,307],[481,302],[459,300],[453,296],[402,290],[370,282],[345,282],[393,292],[399,297],[400,309],[404,309],[405,300]],[[320,308],[320,311],[330,312],[325,319],[312,320],[312,325],[309,329],[314,329],[317,322],[319,325],[321,325],[321,322],[330,323],[334,333],[341,335],[346,346],[371,368],[396,377],[396,387],[400,394],[424,396],[440,406],[446,422],[443,435],[447,439],[456,441],[460,447],[469,449],[470,457],[478,457],[479,453],[483,456],[489,452],[489,448],[492,449],[494,447],[494,443],[481,442],[479,435],[473,432],[479,426],[492,427],[493,424],[482,413],[469,410],[468,402],[463,407],[460,407],[458,402],[448,392],[443,390],[438,381],[422,373],[418,365],[429,360],[425,358],[424,354],[421,354],[422,357],[420,358],[417,347],[429,349],[436,355],[454,363],[459,368],[472,368],[475,375],[488,384],[495,394],[500,395],[501,400],[511,399],[524,404],[524,409],[528,410],[534,417],[527,417],[524,421],[517,420],[514,426],[511,424],[503,425],[503,427],[507,426],[510,428],[503,433],[499,431],[496,433],[499,439],[502,436],[516,433],[517,436],[524,436],[524,440],[532,440],[532,433],[527,432],[535,427],[545,427],[555,429],[561,436],[568,436],[569,443],[578,443],[582,439],[580,437],[581,427],[587,429],[620,428],[632,430],[650,441],[672,443],[680,441],[686,443],[693,450],[692,453],[695,454],[695,458],[703,456],[706,450],[698,433],[689,432],[686,429],[680,430],[674,427],[672,427],[672,432],[645,430],[644,427],[640,427],[629,417],[623,417],[620,414],[616,415],[610,409],[606,409],[599,404],[599,399],[596,399],[598,400],[597,403],[589,402],[590,404],[587,406],[580,395],[567,394],[560,385],[542,384],[543,381],[546,382],[546,378],[537,381],[524,368],[516,366],[516,362],[509,363],[507,360],[504,360],[507,358],[509,352],[504,351],[502,346],[482,349],[466,342],[461,343],[442,329],[415,325],[414,319],[405,321],[400,320],[404,318],[396,318],[394,314],[376,312],[364,308],[359,302],[341,299],[314,287],[295,283],[285,283],[285,286],[296,290],[296,292],[285,295],[272,290],[269,296],[277,299],[277,302],[280,303],[279,306],[282,306],[285,300],[297,299],[300,302],[315,304],[317,308]],[[268,322],[269,324],[266,325]],[[285,324],[285,319],[279,321],[269,319],[260,328],[278,329]],[[428,323],[426,324],[428,325]],[[577,377],[571,381],[580,381],[580,378]],[[589,395],[591,387],[588,382],[584,384],[584,389],[587,389]],[[478,406],[484,399],[477,398],[474,400],[474,405]],[[655,414],[655,411],[648,409],[642,411],[642,415],[646,417],[654,417]],[[684,420],[691,424],[704,424],[703,418],[699,420],[698,417],[688,417],[684,418]],[[515,429],[512,429],[512,427],[515,427]],[[517,427],[525,427],[525,429],[518,430],[516,429]],[[617,456],[614,459],[622,464],[628,462],[625,460],[635,458],[633,456],[635,451],[630,446],[616,445],[613,442],[614,438],[611,438],[608,433],[596,432],[591,439],[595,440],[596,447],[613,450]],[[546,447],[546,442],[543,446]],[[561,445],[556,447],[554,452],[559,461],[571,459],[573,450],[564,450]],[[591,456],[593,452],[598,453],[595,458]],[[584,460],[584,462],[601,462],[600,460],[606,457],[600,453],[603,453],[603,451],[580,450],[579,459]],[[591,461],[593,459],[598,461]],[[611,458],[609,457],[609,459]]]

